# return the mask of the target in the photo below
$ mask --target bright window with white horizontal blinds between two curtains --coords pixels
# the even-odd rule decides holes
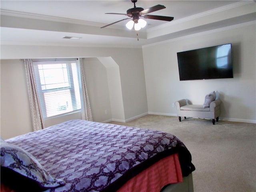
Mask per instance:
[[[81,110],[76,60],[34,61],[44,119]]]

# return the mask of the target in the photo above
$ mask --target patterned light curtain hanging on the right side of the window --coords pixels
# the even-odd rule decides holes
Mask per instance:
[[[90,107],[88,92],[85,83],[83,59],[78,58],[81,70],[81,84],[82,84],[82,120],[92,121],[92,110]]]

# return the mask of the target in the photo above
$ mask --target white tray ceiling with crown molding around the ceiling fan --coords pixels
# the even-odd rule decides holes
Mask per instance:
[[[100,28],[127,18],[105,13],[126,13],[134,6],[130,0],[1,0],[1,44],[140,47],[255,21],[254,1],[138,0],[136,6],[146,9],[156,4],[166,8],[150,14],[174,20],[146,19],[148,24],[138,31],[137,40],[136,32],[125,28],[128,20]]]

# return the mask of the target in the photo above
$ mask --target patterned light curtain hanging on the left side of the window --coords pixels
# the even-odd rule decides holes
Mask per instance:
[[[28,87],[28,98],[30,104],[30,113],[32,118],[33,130],[44,129],[44,118],[39,103],[38,92],[36,89],[36,80],[34,74],[34,65],[31,59],[25,59],[26,81]]]

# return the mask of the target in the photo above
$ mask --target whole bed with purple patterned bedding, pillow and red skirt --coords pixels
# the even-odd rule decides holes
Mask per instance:
[[[70,120],[1,139],[1,192],[192,191],[191,161],[172,134]]]

